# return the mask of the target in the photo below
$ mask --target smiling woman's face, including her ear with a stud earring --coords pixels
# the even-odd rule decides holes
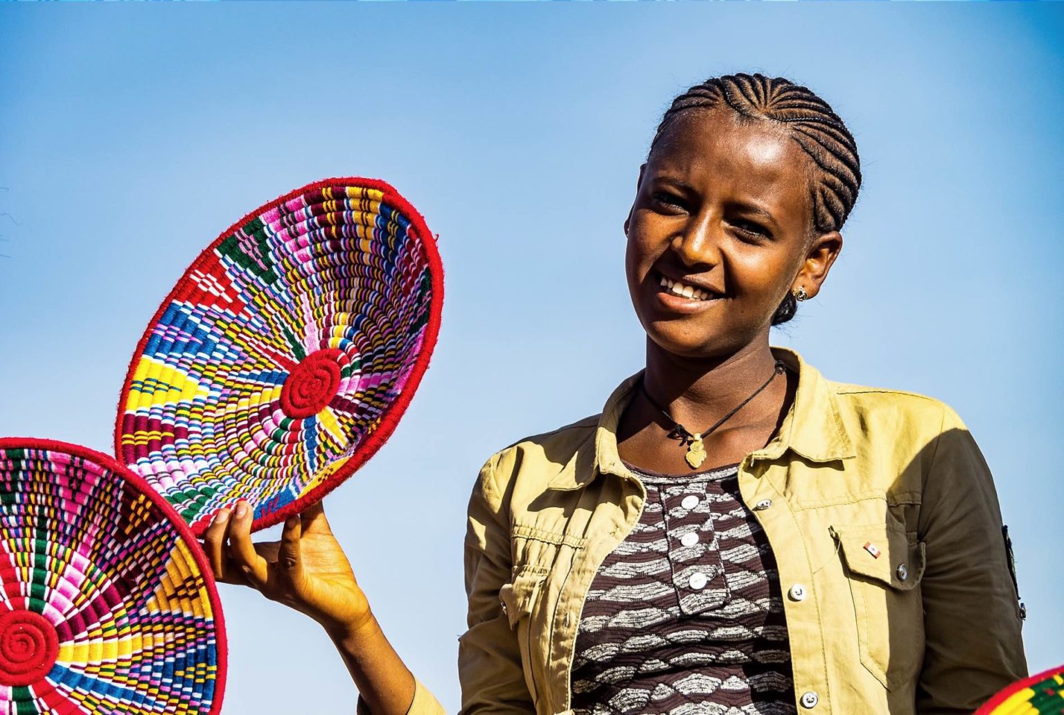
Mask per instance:
[[[735,117],[678,116],[642,168],[625,221],[635,312],[675,355],[767,344],[786,294],[816,295],[842,248],[837,232],[811,235],[810,159],[778,128]]]

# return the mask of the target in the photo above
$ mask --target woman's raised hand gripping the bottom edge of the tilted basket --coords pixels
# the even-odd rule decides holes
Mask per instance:
[[[240,500],[222,509],[203,536],[216,580],[251,586],[306,614],[334,637],[367,625],[372,615],[321,502],[284,522],[279,542],[252,543],[252,510]],[[227,544],[228,542],[228,544]]]

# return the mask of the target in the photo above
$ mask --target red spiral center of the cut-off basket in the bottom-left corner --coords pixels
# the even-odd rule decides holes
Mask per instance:
[[[55,627],[39,613],[0,615],[0,684],[30,685],[51,672],[60,653]]]

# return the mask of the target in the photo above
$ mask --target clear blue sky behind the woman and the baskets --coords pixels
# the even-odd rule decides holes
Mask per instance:
[[[1064,5],[1012,3],[0,6],[0,434],[109,450],[137,337],[202,247],[312,180],[392,182],[440,234],[443,333],[326,505],[455,711],[477,470],[642,366],[621,221],[661,112],[711,74],[783,74],[847,120],[865,185],[774,343],[958,410],[1014,534],[1031,668],[1059,664],[1062,29]],[[311,621],[222,598],[228,713],[352,712]]]

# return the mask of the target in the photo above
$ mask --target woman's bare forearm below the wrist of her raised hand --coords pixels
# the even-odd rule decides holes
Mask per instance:
[[[406,715],[414,700],[414,676],[388,643],[377,618],[329,632],[351,680],[373,715]]]

